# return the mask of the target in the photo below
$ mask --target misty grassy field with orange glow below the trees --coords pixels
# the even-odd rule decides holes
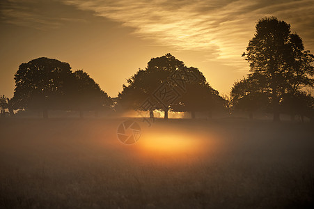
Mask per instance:
[[[0,120],[0,208],[313,208],[308,123]]]

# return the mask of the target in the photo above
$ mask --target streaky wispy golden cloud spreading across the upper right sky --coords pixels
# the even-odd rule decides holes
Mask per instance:
[[[292,24],[313,49],[313,0],[300,1],[86,1],[65,0],[81,10],[121,22],[142,38],[178,50],[203,51],[207,59],[243,66],[242,52],[258,19],[274,15]]]

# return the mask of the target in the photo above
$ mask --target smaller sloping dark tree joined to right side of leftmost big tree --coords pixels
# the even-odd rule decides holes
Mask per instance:
[[[74,93],[72,97],[72,107],[79,110],[79,115],[83,118],[84,111],[97,112],[104,109],[109,109],[111,106],[111,98],[107,93],[104,93],[94,79],[92,79],[83,70],[77,70],[74,75]]]

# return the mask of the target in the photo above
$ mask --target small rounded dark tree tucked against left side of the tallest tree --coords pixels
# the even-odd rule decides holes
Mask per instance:
[[[231,107],[248,111],[252,119],[253,111],[265,110],[269,106],[269,91],[265,85],[264,77],[258,73],[235,82],[230,91]]]

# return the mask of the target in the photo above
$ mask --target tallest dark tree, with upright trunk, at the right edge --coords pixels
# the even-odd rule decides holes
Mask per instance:
[[[290,31],[290,24],[265,17],[256,24],[256,33],[246,47],[246,60],[252,73],[265,80],[269,91],[274,121],[280,121],[280,103],[286,93],[295,93],[304,86],[313,87],[314,56],[304,50],[301,38]]]

